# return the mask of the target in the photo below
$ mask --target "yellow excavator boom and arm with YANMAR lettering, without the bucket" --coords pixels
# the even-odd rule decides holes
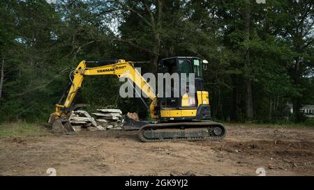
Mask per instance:
[[[142,93],[147,95],[151,100],[151,105],[149,106],[151,118],[158,118],[158,116],[154,114],[154,109],[157,106],[156,93],[142,75],[135,70],[133,62],[119,59],[117,63],[102,65],[96,68],[88,68],[87,63],[88,61],[81,61],[80,64],[77,65],[77,68],[70,73],[70,76],[73,77],[70,77],[71,85],[66,100],[63,104],[56,104],[55,116],[57,118],[66,116],[66,110],[72,106],[77,90],[81,88],[85,76],[105,74],[116,75],[119,78],[127,78],[130,79],[130,81],[133,81],[133,83],[142,90]]]

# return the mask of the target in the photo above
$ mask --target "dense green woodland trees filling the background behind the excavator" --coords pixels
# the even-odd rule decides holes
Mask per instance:
[[[3,0],[0,121],[46,121],[84,59],[151,61],[135,65],[144,73],[155,72],[160,58],[199,56],[210,63],[203,74],[214,118],[248,120],[249,82],[253,120],[300,122],[286,103],[314,104],[313,2],[249,2]],[[76,102],[145,118],[140,100],[119,97],[120,84],[87,77]]]

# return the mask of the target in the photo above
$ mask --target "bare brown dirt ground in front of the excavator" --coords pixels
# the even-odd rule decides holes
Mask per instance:
[[[223,141],[141,143],[107,130],[0,138],[0,175],[314,175],[314,129],[227,126]]]

